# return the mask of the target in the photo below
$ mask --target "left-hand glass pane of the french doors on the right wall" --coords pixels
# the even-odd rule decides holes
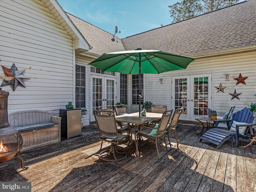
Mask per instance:
[[[187,79],[175,79],[175,109],[183,107],[183,114],[187,114]]]

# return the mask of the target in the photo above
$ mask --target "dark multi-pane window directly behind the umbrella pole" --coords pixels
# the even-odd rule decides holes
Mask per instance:
[[[138,74],[132,75],[132,104],[139,104],[140,89],[140,94],[143,96],[143,74],[140,75],[140,79]],[[143,104],[143,99],[140,100],[140,103]]]

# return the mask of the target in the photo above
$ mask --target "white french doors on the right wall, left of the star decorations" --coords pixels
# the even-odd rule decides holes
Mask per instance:
[[[172,93],[172,106],[183,107],[181,120],[204,116],[212,107],[212,74],[173,76]]]

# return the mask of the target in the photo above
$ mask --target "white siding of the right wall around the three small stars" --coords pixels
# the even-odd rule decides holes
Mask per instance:
[[[151,101],[157,104],[166,104],[167,108],[174,108],[171,104],[172,96],[172,76],[190,75],[190,74],[206,74],[213,73],[212,79],[212,102],[213,109],[217,110],[218,114],[223,115],[231,106],[236,106],[235,111],[246,107],[246,104],[256,102],[256,54],[255,52],[233,54],[229,56],[220,56],[214,58],[204,58],[194,60],[185,70],[176,70],[165,72],[162,74],[145,74],[144,75],[144,101]],[[224,80],[224,75],[229,73],[230,81]],[[239,74],[243,77],[248,77],[245,84],[236,85],[236,80]],[[164,79],[164,83],[160,84],[160,78]],[[222,86],[225,93],[218,92],[215,86]],[[236,89],[240,100],[234,98],[231,100]],[[138,110],[137,106],[131,106],[132,110]]]

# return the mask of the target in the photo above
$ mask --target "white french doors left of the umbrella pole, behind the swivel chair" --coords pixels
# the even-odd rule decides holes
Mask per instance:
[[[99,106],[111,105],[116,103],[116,78],[91,76],[91,121],[94,121],[93,110],[98,110]]]

